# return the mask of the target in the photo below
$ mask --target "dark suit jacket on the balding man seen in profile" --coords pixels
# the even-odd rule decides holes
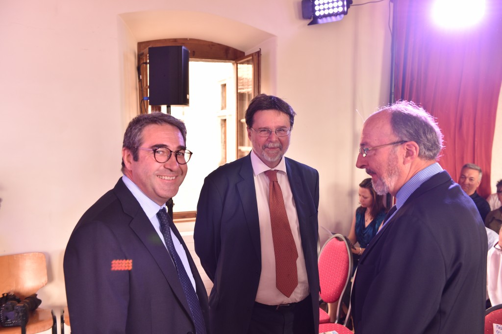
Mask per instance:
[[[445,171],[411,194],[364,251],[354,279],[355,332],[483,333],[486,231]]]

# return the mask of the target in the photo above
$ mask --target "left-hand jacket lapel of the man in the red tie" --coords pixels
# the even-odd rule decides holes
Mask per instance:
[[[249,230],[249,234],[255,248],[255,253],[261,261],[262,246],[260,243],[258,203],[256,200],[255,179],[250,154],[248,154],[245,159],[243,159],[239,175],[242,178],[241,181],[237,182],[240,204],[242,205],[242,209],[244,210],[247,228]]]

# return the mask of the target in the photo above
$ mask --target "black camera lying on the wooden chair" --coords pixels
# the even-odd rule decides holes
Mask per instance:
[[[4,293],[2,299],[7,300],[0,305],[0,325],[3,327],[26,326],[30,313],[37,309],[42,300],[34,293],[20,300],[16,296]]]

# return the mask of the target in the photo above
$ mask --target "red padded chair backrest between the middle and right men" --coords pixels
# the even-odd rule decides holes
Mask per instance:
[[[322,246],[317,263],[321,298],[328,303],[335,302],[349,285],[352,273],[352,254],[347,239],[341,234],[331,236]]]

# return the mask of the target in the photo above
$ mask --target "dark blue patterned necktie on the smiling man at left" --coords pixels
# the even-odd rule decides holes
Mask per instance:
[[[169,250],[169,253],[171,253],[171,257],[173,258],[176,269],[178,270],[181,286],[183,287],[188,306],[192,312],[192,319],[195,323],[195,332],[196,334],[205,334],[206,326],[204,323],[204,317],[202,316],[202,310],[200,309],[199,298],[197,297],[197,293],[195,292],[192,282],[190,281],[185,267],[183,266],[183,262],[181,262],[180,256],[174,248],[173,239],[171,238],[170,225],[172,224],[172,220],[167,215],[165,208],[159,210],[157,218],[159,218],[160,230],[164,235],[167,249]]]

